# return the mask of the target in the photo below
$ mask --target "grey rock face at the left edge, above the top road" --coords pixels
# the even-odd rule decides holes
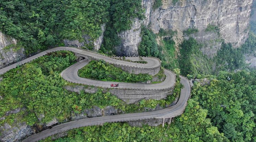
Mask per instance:
[[[16,39],[0,31],[0,69],[25,58],[24,49],[16,44]]]

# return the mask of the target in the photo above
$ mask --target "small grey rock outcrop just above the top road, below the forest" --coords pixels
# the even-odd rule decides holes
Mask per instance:
[[[91,40],[91,37],[89,37],[88,35],[83,35],[84,41],[82,42],[79,42],[79,40],[69,40],[69,39],[64,39],[63,42],[65,46],[75,46],[75,47],[82,47],[82,46],[85,46],[86,44],[92,44],[94,46],[94,50],[99,50],[103,42],[103,35],[105,32],[105,28],[106,28],[105,24],[103,24],[101,26],[102,34],[96,40]]]

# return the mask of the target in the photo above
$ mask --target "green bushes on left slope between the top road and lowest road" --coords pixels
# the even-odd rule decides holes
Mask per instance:
[[[42,122],[54,117],[64,120],[65,116],[69,116],[75,93],[68,93],[62,88],[65,82],[59,73],[75,59],[71,52],[58,51],[3,74],[0,82],[0,94],[3,97],[0,101],[0,117],[12,109],[25,107],[26,110],[9,115],[0,123],[11,124],[14,118],[22,118],[22,121],[33,125],[40,114],[45,114]]]

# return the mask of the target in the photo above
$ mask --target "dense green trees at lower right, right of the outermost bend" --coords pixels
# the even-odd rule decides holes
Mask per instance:
[[[231,78],[229,80],[228,78]],[[221,71],[210,85],[196,84],[192,98],[208,110],[212,125],[230,141],[256,140],[256,73]]]

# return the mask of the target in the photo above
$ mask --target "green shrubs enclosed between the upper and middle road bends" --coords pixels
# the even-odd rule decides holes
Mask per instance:
[[[152,75],[128,73],[103,60],[91,61],[78,71],[78,75],[82,78],[115,82],[146,82],[152,79]]]

